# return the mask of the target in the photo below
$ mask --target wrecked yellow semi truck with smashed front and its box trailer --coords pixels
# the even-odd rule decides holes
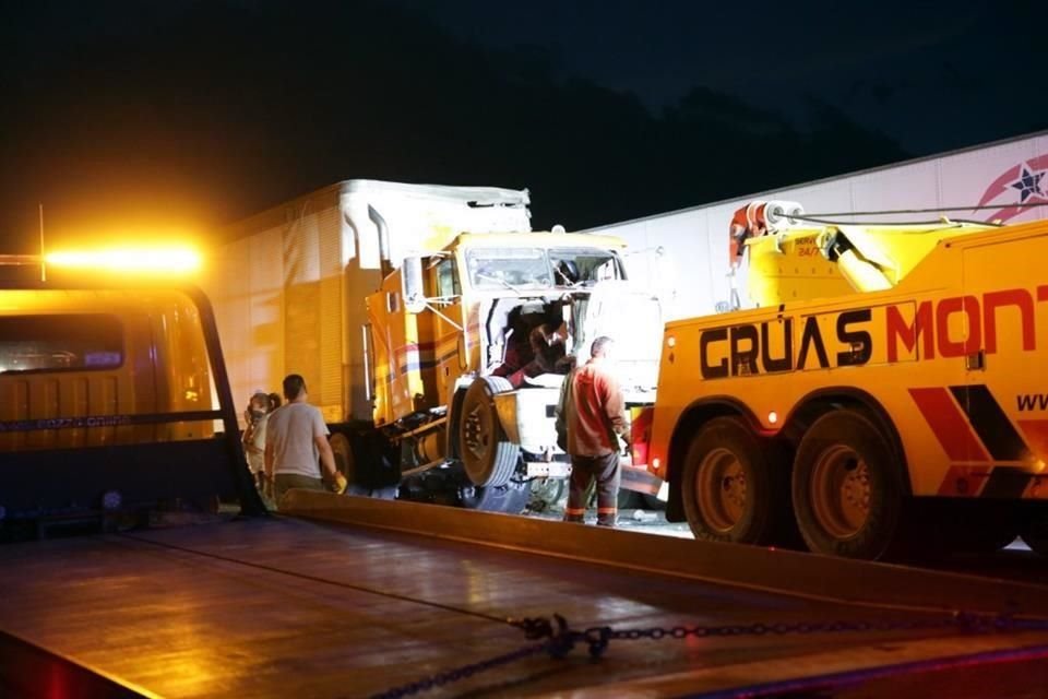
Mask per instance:
[[[528,204],[348,180],[233,226],[204,286],[235,393],[303,375],[354,493],[523,510],[568,474],[570,367],[610,335],[628,404],[650,405],[662,336],[620,239],[533,232]]]

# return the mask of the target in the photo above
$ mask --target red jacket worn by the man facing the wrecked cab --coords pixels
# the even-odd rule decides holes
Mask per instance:
[[[590,359],[571,376],[570,400],[564,412],[568,453],[605,457],[619,451],[616,435],[629,431],[626,401],[618,380],[600,357]]]

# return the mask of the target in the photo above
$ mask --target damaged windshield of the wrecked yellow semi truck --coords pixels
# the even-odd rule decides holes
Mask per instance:
[[[480,248],[466,251],[474,288],[574,286],[622,279],[614,253],[598,248]]]

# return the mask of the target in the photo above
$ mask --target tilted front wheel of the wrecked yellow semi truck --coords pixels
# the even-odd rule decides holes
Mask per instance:
[[[480,377],[469,384],[462,401],[458,458],[475,486],[503,486],[516,470],[521,448],[505,436],[495,408],[496,394],[512,390],[502,377]]]

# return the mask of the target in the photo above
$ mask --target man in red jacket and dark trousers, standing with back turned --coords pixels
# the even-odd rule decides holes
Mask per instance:
[[[571,484],[564,521],[582,522],[586,490],[597,482],[597,525],[615,526],[619,499],[619,435],[629,435],[622,389],[611,372],[610,337],[597,337],[590,362],[564,379],[558,412],[567,427]]]

